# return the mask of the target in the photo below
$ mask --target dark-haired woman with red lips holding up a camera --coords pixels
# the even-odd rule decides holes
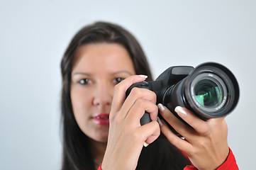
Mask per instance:
[[[182,140],[165,123],[157,123],[152,91],[133,89],[126,98],[131,84],[152,77],[137,40],[120,26],[99,22],[82,28],[67,47],[61,68],[62,169],[97,169],[101,163],[104,170],[184,169],[190,163],[179,149],[201,169],[216,169],[228,157],[223,118],[206,123],[177,108],[191,129],[159,105],[163,118],[186,137]],[[152,122],[140,126],[145,111]],[[160,125],[169,141],[159,137]]]

